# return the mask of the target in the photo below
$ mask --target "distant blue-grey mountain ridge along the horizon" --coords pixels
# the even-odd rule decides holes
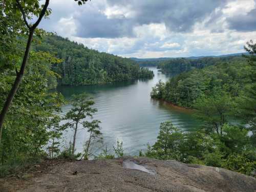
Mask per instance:
[[[186,58],[186,59],[199,59],[205,57],[230,57],[230,56],[241,56],[242,54],[247,55],[248,53],[233,53],[233,54],[226,54],[226,55],[209,55],[209,56],[191,56],[191,57],[159,57],[159,58],[136,58],[131,57],[130,59],[134,61],[165,61],[169,59],[177,59],[177,58]]]

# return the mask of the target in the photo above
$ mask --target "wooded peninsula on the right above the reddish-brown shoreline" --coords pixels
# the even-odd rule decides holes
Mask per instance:
[[[250,87],[251,66],[243,57],[230,57],[228,62],[192,70],[171,78],[153,88],[152,97],[192,108],[198,98],[213,97],[226,92],[238,98]],[[161,93],[161,94],[159,94]]]

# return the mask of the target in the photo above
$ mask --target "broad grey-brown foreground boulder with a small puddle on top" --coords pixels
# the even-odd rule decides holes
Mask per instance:
[[[42,167],[25,178],[0,180],[0,191],[256,191],[253,177],[173,160],[127,157]]]

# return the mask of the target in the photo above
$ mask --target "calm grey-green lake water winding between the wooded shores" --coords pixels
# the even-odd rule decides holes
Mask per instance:
[[[95,100],[98,112],[94,119],[101,121],[104,144],[112,149],[117,139],[123,141],[124,153],[138,155],[146,144],[154,144],[159,132],[159,125],[164,121],[172,121],[175,126],[184,130],[195,130],[199,122],[191,111],[172,106],[168,103],[151,99],[152,87],[161,79],[167,81],[169,76],[150,68],[155,77],[150,80],[115,82],[97,86],[58,87],[65,98],[83,92],[90,93]],[[63,106],[63,115],[71,106]],[[72,141],[73,132],[65,134]],[[76,152],[82,151],[87,131],[79,130]]]

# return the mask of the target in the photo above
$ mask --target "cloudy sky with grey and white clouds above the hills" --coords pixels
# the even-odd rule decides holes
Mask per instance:
[[[256,40],[256,0],[51,0],[40,27],[124,57],[244,52]]]

